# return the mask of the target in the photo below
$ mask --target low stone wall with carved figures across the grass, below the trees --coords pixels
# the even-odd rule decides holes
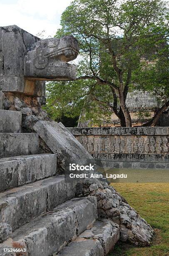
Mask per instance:
[[[169,127],[69,129],[104,166],[169,169]]]

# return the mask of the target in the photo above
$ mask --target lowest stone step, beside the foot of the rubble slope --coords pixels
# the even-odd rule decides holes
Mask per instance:
[[[97,221],[89,230],[85,230],[57,255],[104,256],[112,251],[118,240],[119,225],[111,220],[101,220]]]

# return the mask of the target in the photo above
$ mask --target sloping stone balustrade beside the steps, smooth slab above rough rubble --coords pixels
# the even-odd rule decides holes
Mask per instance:
[[[79,161],[79,164],[89,164],[93,161],[91,155],[87,153],[86,149],[62,123],[37,121],[33,129],[45,141],[50,150],[55,154],[57,153],[57,163],[62,166],[62,171],[72,161],[75,163]],[[135,245],[141,246],[150,243],[153,235],[152,228],[107,182],[101,182],[101,180],[96,178],[86,178],[82,181],[79,179],[75,183],[75,195],[76,197],[88,196],[89,198],[90,196],[95,196],[97,198],[99,219],[109,218],[119,225],[120,230],[124,229],[125,232],[120,231],[120,239],[124,240],[123,233],[125,233],[125,241],[129,240]],[[123,214],[125,218],[128,218],[129,225],[121,220],[121,215]],[[142,238],[140,239],[140,237]]]

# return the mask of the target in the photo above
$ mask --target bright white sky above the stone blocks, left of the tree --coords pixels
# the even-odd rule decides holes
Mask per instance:
[[[17,25],[37,35],[53,37],[71,0],[0,0],[0,26]]]

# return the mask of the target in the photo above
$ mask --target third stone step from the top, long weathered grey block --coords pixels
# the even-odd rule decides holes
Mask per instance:
[[[0,159],[0,192],[56,174],[55,154],[13,156]]]

